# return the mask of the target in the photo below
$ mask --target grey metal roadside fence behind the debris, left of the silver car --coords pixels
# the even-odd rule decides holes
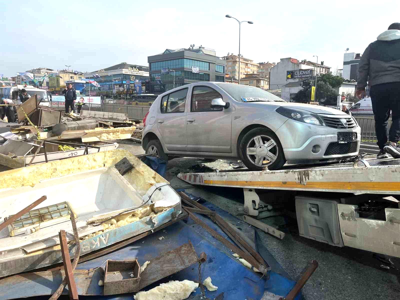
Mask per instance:
[[[65,102],[51,101],[49,106],[64,110]],[[130,119],[143,120],[144,116],[150,110],[150,106],[86,103],[85,105],[82,105],[82,110],[92,110],[95,112],[119,112],[121,114],[128,114],[128,118]]]

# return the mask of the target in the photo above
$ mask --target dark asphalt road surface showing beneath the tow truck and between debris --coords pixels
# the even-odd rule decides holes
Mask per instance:
[[[140,144],[120,142],[134,154],[144,153]],[[197,158],[176,158],[168,162],[167,180],[179,180],[175,174],[187,170],[204,161]],[[232,164],[232,165],[231,165]],[[217,160],[207,164],[221,169],[241,165],[237,160]],[[185,184],[182,182],[182,184]],[[194,187],[186,190],[196,196],[216,204],[230,214],[241,217],[236,207],[243,206],[243,193],[237,188]],[[273,217],[263,219],[271,226],[282,226],[289,229],[283,240],[279,240],[259,231],[262,242],[288,272],[296,280],[304,272],[311,260],[317,260],[318,269],[303,288],[307,300],[365,300],[365,299],[399,299],[400,298],[400,259],[392,258],[394,267],[381,268],[382,262],[373,257],[372,252],[350,247],[335,247],[296,234],[296,221],[290,218]],[[286,223],[285,223],[286,221]],[[287,222],[291,226],[284,226]],[[290,225],[290,224],[289,224]],[[284,230],[281,228],[281,230]]]

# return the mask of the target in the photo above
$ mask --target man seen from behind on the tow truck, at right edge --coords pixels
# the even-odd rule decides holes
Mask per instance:
[[[380,152],[377,158],[400,158],[400,23],[393,23],[368,45],[358,65],[356,96],[365,97],[370,88],[375,132]],[[388,119],[392,111],[392,126],[387,136]]]

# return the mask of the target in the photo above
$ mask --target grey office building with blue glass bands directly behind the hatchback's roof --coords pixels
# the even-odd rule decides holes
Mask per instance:
[[[166,49],[148,56],[150,93],[161,94],[178,86],[201,81],[225,81],[226,61],[205,47]]]

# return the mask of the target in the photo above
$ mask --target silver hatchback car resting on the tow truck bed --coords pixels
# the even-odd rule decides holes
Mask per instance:
[[[290,103],[253,86],[196,82],[157,97],[142,147],[160,158],[240,158],[250,170],[358,154],[360,126],[333,108]]]

